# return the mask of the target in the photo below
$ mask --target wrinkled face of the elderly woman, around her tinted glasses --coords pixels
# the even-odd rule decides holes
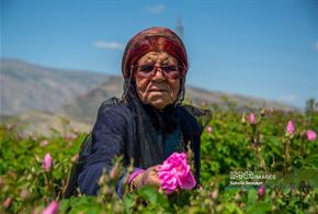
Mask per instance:
[[[150,78],[140,77],[141,65],[155,65],[155,75]],[[178,60],[166,52],[149,52],[138,60],[135,70],[136,90],[139,99],[145,104],[150,104],[158,110],[163,110],[168,104],[177,100],[180,90],[180,79],[163,77],[161,66],[175,66]]]

